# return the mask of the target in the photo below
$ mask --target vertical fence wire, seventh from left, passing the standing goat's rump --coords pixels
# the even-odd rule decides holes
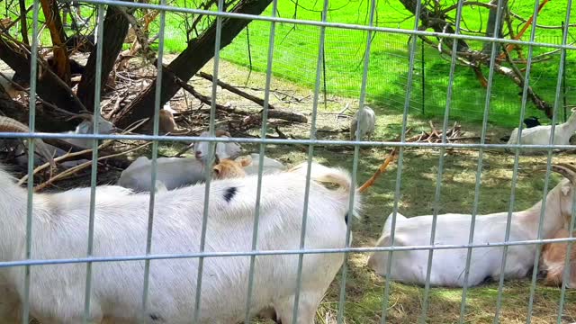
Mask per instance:
[[[376,11],[376,3],[377,0],[370,1],[370,14],[369,14],[369,21],[368,25],[372,27],[374,25],[374,13]],[[365,99],[366,99],[366,84],[368,80],[368,67],[370,65],[370,50],[372,49],[372,37],[373,31],[366,32],[366,49],[365,49],[365,57],[364,57],[364,69],[362,73],[362,84],[360,85],[360,100],[358,101],[358,118],[356,120],[356,141],[362,140],[362,132],[361,130],[361,118],[360,116],[363,114],[365,110]],[[326,76],[325,76],[326,78]],[[358,157],[360,155],[360,147],[358,145],[354,146],[354,157],[352,161],[352,184],[353,188],[356,186],[356,175],[358,172]],[[354,202],[355,202],[355,195],[356,191],[350,191],[350,197],[348,198],[348,221],[347,221],[347,230],[346,230],[346,240],[345,240],[345,247],[350,247],[350,238],[351,238],[351,229],[352,223],[355,219],[354,217]],[[337,316],[337,323],[344,322],[344,309],[345,309],[345,301],[346,301],[346,282],[347,282],[347,272],[348,272],[348,253],[344,254],[344,265],[342,265],[342,275],[340,278],[340,299],[338,301],[338,316]]]

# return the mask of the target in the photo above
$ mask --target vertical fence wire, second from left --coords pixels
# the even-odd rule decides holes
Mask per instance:
[[[96,68],[94,78],[94,114],[92,120],[93,134],[98,134],[98,126],[100,123],[100,94],[102,89],[102,48],[103,48],[103,22],[104,22],[104,6],[103,4],[97,5],[97,40],[96,40]],[[88,248],[86,257],[92,257],[94,249],[94,213],[96,206],[96,178],[98,175],[98,139],[92,139],[92,166],[90,173],[90,211],[88,220]],[[92,262],[86,263],[86,284],[84,295],[84,316],[82,323],[86,324],[90,321],[90,296],[92,293]]]

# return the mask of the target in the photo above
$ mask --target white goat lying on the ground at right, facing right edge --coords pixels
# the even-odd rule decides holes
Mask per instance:
[[[545,204],[543,238],[550,238],[561,229],[572,213],[572,190],[576,181],[576,169],[573,166],[553,166],[554,171],[562,173],[563,179],[552,189]],[[536,203],[526,211],[512,214],[510,241],[536,239],[538,220],[542,202]],[[503,242],[508,212],[479,215],[474,230],[474,244]],[[435,244],[463,245],[468,243],[471,215],[443,214],[437,216]],[[397,214],[394,246],[427,246],[430,242],[432,216],[406,218]],[[386,220],[383,235],[377,247],[391,246],[392,214]],[[500,277],[500,265],[503,247],[473,248],[468,284],[480,284],[486,278]],[[505,278],[518,278],[527,274],[534,265],[536,246],[510,246],[507,255]],[[462,286],[467,248],[439,249],[434,252],[430,273],[430,284],[440,286]],[[375,252],[368,260],[378,275],[386,275],[388,251]],[[428,269],[428,250],[396,251],[392,255],[392,271],[389,279],[410,284],[425,284]]]

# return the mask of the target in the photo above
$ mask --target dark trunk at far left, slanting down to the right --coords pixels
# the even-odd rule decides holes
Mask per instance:
[[[30,81],[30,54],[14,45],[11,40],[5,39],[2,33],[0,33],[0,59],[22,76],[23,80]],[[38,69],[36,93],[47,102],[68,112],[81,112],[82,103],[77,100],[72,90],[49,68],[41,70]]]

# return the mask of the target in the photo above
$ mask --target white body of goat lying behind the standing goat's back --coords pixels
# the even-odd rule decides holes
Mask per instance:
[[[173,190],[205,179],[202,162],[194,157],[158,157],[156,179],[161,189]],[[150,191],[152,160],[138,157],[120,175],[118,185],[135,191]],[[163,186],[162,186],[163,184]]]

